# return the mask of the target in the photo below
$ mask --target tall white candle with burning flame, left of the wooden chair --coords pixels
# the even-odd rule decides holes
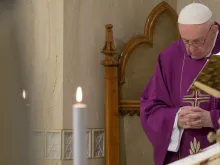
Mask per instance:
[[[82,103],[82,88],[76,91],[77,103],[73,105],[74,165],[86,165],[86,105]]]

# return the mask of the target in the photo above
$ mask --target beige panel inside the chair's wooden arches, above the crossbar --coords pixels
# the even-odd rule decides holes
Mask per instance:
[[[167,13],[161,14],[153,29],[153,46],[140,45],[129,57],[125,69],[126,82],[122,86],[123,100],[139,100],[154,72],[159,53],[177,39],[177,33],[173,19]]]

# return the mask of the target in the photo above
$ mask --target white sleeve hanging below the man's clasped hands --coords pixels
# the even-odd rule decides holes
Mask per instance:
[[[183,131],[184,131],[184,129],[179,129],[178,124],[177,124],[178,114],[180,111],[181,111],[181,108],[176,113],[176,117],[175,117],[175,121],[174,121],[174,125],[173,125],[173,131],[172,131],[170,143],[168,146],[168,151],[172,151],[172,152],[177,152],[179,150],[180,141],[181,141]]]

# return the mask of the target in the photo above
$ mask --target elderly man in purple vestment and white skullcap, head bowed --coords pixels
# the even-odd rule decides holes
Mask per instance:
[[[207,59],[220,52],[220,26],[199,3],[184,7],[178,23],[181,39],[160,53],[140,98],[141,124],[154,147],[156,165],[208,147],[208,133],[219,128],[220,100],[187,90]]]

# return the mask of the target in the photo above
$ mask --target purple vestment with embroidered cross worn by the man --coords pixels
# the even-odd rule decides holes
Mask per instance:
[[[218,52],[220,33],[212,54]],[[207,135],[219,128],[220,100],[202,91],[187,93],[206,60],[188,56],[182,40],[174,42],[158,57],[155,73],[140,98],[141,124],[153,145],[155,165],[171,163],[211,145]],[[185,129],[178,152],[168,152],[176,113],[186,105],[210,111],[214,129]]]

